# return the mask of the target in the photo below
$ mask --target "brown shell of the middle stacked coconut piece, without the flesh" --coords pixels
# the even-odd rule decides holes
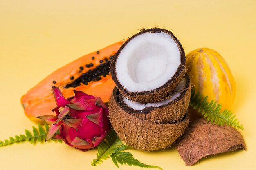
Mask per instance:
[[[186,86],[180,96],[168,104],[164,104],[159,107],[148,107],[143,110],[134,110],[124,103],[123,96],[119,93],[119,90],[116,87],[113,90],[113,94],[118,96],[119,104],[124,108],[124,110],[126,110],[126,112],[129,112],[130,115],[150,122],[175,123],[182,120],[189,106],[191,84],[189,75],[186,75],[185,78]]]

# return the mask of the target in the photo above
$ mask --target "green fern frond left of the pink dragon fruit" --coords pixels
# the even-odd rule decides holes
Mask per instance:
[[[33,128],[33,135],[29,130],[25,129],[25,135],[19,135],[19,136],[15,135],[15,137],[9,137],[9,140],[6,139],[4,141],[0,141],[0,147],[22,142],[22,141],[29,141],[31,142],[31,144],[34,144],[36,142],[44,142],[46,134],[49,130],[49,126],[45,124],[45,128],[43,128],[42,125],[38,124],[38,129],[35,128],[34,126],[32,128]],[[54,140],[54,141],[59,141],[59,140]]]

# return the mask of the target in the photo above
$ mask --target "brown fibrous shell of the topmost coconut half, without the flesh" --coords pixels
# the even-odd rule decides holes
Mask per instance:
[[[176,42],[176,44],[180,50],[180,66],[178,67],[178,69],[177,69],[176,73],[173,75],[173,77],[170,77],[171,79],[168,82],[166,82],[166,84],[163,84],[161,87],[158,87],[158,88],[156,88],[154,90],[150,90],[150,91],[130,92],[130,91],[127,91],[124,88],[124,86],[122,86],[117,79],[117,75],[116,75],[117,58],[118,58],[120,52],[122,51],[122,49],[124,49],[124,46],[126,46],[126,44],[128,42],[130,42],[130,40],[132,40],[136,36],[141,35],[146,32],[168,33],[173,38],[173,40]],[[119,91],[121,91],[121,93],[123,95],[125,95],[126,97],[128,97],[129,99],[131,99],[134,102],[140,102],[142,104],[146,104],[146,103],[153,103],[153,102],[161,101],[166,98],[165,96],[169,96],[171,94],[171,91],[173,91],[173,89],[180,83],[182,78],[185,76],[185,74],[186,74],[185,65],[186,65],[186,57],[185,57],[184,49],[182,48],[182,45],[180,44],[179,40],[173,35],[173,33],[166,29],[153,28],[153,29],[146,29],[144,31],[141,31],[141,32],[133,35],[120,47],[120,49],[117,51],[115,57],[113,58],[113,60],[111,62],[110,73],[112,75],[112,79],[114,80],[117,88],[119,89]]]

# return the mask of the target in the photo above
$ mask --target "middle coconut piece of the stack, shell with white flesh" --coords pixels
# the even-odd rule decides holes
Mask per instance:
[[[175,123],[181,121],[189,106],[191,85],[189,75],[186,75],[171,95],[160,102],[141,104],[126,99],[115,88],[113,94],[118,96],[118,102],[126,112],[140,119],[157,123]]]

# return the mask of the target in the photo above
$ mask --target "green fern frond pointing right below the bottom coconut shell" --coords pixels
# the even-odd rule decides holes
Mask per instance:
[[[133,157],[133,155],[129,152],[117,152],[111,155],[112,161],[114,164],[119,168],[117,163],[120,163],[121,165],[129,165],[129,166],[139,166],[142,168],[158,168],[160,170],[163,170],[159,166],[153,166],[153,165],[146,165],[144,163],[141,163],[137,159]]]

